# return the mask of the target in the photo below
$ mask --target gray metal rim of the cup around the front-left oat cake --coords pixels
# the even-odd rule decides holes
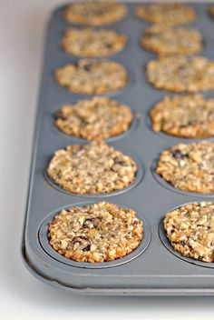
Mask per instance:
[[[65,208],[62,208],[62,209],[66,210],[70,206],[92,205],[93,203],[94,202],[72,204],[72,205],[66,206]],[[124,207],[124,206],[122,205],[122,207]],[[62,210],[62,209],[60,209],[60,210]],[[89,269],[102,269],[102,268],[109,268],[109,267],[117,266],[117,265],[123,265],[125,263],[130,262],[132,259],[137,258],[139,255],[141,255],[146,250],[147,246],[149,245],[149,243],[151,241],[151,231],[150,231],[149,225],[146,223],[144,217],[142,217],[141,215],[138,215],[138,213],[136,213],[136,216],[142,221],[142,224],[143,224],[143,237],[141,240],[141,244],[136,249],[134,249],[129,255],[125,255],[120,259],[116,259],[116,260],[108,261],[108,262],[102,262],[102,263],[77,262],[72,259],[68,259],[68,258],[64,257],[63,255],[58,254],[48,242],[48,224],[53,220],[55,215],[58,215],[60,213],[60,210],[49,215],[44,220],[43,224],[41,225],[41,227],[39,229],[38,236],[39,236],[40,244],[42,245],[45,253],[52,256],[53,259],[59,261],[62,264],[73,265],[75,267],[89,268]]]

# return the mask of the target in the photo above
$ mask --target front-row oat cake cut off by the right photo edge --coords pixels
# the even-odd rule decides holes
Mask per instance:
[[[181,255],[214,262],[214,203],[182,205],[168,213],[164,229],[173,248]]]

